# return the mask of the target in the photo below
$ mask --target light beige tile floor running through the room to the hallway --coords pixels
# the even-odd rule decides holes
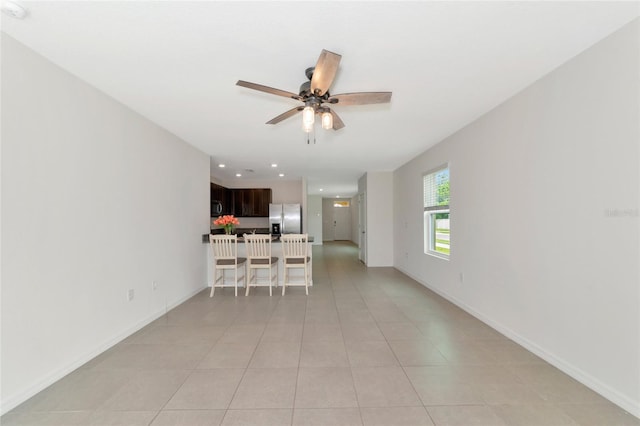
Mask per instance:
[[[0,419],[12,425],[640,425],[347,243],[309,296],[202,291]]]

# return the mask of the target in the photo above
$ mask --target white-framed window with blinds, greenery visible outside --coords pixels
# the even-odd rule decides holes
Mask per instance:
[[[449,166],[439,167],[423,177],[424,252],[449,257]]]

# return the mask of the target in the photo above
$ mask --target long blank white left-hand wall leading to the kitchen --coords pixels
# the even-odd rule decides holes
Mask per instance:
[[[209,158],[5,34],[1,119],[6,412],[206,286]]]

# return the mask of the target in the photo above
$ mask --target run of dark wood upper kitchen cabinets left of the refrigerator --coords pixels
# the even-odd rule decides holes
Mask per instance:
[[[233,214],[237,217],[269,217],[271,188],[229,189],[211,183],[211,217]]]

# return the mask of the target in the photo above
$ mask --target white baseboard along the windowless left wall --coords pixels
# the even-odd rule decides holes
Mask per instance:
[[[18,393],[15,393],[13,395],[9,395],[6,398],[4,398],[4,395],[3,395],[3,399],[2,399],[2,401],[0,401],[0,416],[6,414],[7,412],[9,412],[11,410],[13,410],[18,405],[22,404],[23,402],[25,402],[26,400],[28,400],[29,398],[31,398],[32,396],[34,396],[38,392],[43,391],[48,386],[51,386],[53,383],[57,382],[58,380],[60,380],[64,376],[66,376],[67,374],[69,374],[72,371],[76,370],[77,368],[83,366],[87,362],[91,361],[93,358],[95,358],[96,356],[100,355],[101,353],[103,353],[104,351],[108,350],[109,348],[113,347],[114,345],[116,345],[117,343],[121,342],[122,340],[126,339],[127,337],[131,336],[136,331],[140,330],[141,328],[143,328],[143,327],[149,325],[150,323],[152,323],[153,321],[157,320],[158,318],[160,318],[161,316],[166,314],[169,310],[175,308],[176,306],[180,305],[181,303],[186,302],[187,300],[189,300],[190,298],[192,298],[196,294],[200,293],[205,288],[206,287],[199,288],[199,289],[191,292],[190,294],[180,298],[179,300],[174,301],[171,304],[167,304],[166,308],[162,308],[162,309],[154,312],[153,314],[149,315],[147,318],[137,322],[136,324],[132,325],[131,327],[128,327],[127,329],[125,329],[122,332],[116,334],[115,336],[113,336],[113,337],[111,337],[109,339],[106,339],[101,344],[97,345],[93,349],[91,349],[91,350],[87,351],[86,353],[82,354],[81,356],[79,356],[77,359],[75,359],[74,361],[70,362],[69,364],[67,364],[67,365],[65,365],[65,366],[63,366],[63,367],[61,367],[61,368],[59,368],[59,369],[57,369],[55,371],[52,371],[51,373],[47,374],[45,377],[42,377],[40,380],[36,381],[35,383],[32,383],[26,389],[23,389],[22,391],[20,391]]]

